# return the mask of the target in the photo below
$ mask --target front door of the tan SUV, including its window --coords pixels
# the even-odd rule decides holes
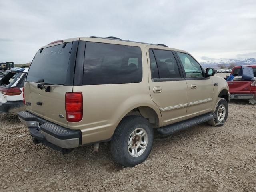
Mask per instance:
[[[188,109],[186,118],[212,111],[213,82],[204,77],[200,64],[189,54],[176,52],[188,85]]]

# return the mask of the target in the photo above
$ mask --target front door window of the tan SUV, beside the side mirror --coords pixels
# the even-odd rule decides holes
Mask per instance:
[[[187,78],[203,77],[202,69],[198,62],[194,60],[194,58],[192,58],[189,54],[186,53],[177,53],[182,62]]]

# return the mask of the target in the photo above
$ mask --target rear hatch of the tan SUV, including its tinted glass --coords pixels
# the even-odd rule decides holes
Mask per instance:
[[[67,126],[65,94],[73,91],[77,42],[51,45],[36,53],[24,86],[26,110]]]

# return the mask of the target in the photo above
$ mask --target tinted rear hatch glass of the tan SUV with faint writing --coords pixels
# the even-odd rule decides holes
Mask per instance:
[[[26,81],[44,82],[48,84],[63,85],[66,82],[66,74],[72,42],[41,49],[36,53],[28,70]]]

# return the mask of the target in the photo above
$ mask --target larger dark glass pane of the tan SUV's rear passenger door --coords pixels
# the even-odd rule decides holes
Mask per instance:
[[[178,64],[171,51],[154,49],[160,78],[180,78]]]

